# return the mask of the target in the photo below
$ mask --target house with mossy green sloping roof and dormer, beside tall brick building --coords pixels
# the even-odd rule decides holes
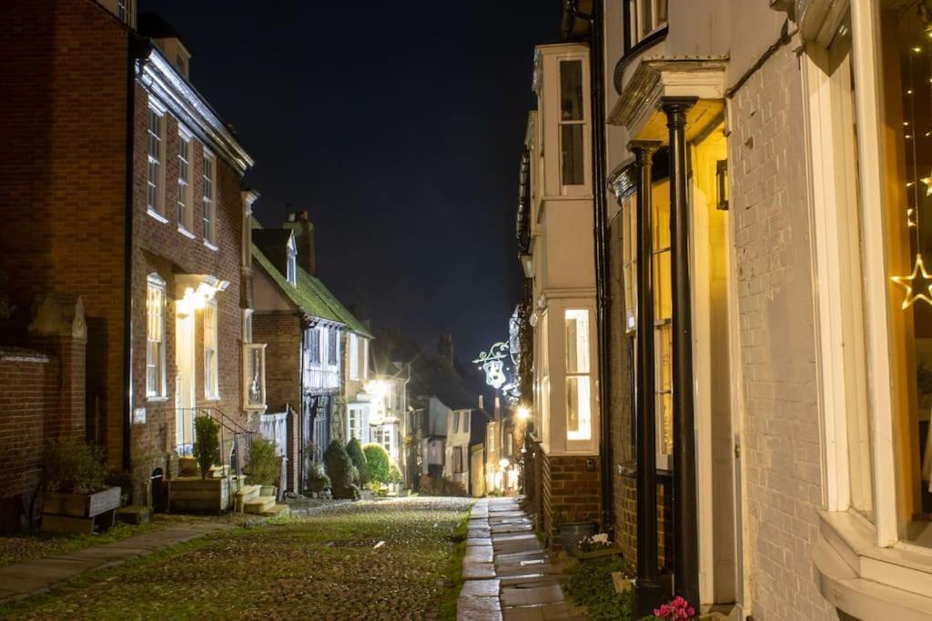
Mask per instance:
[[[254,226],[254,338],[267,344],[270,410],[287,416],[285,487],[303,493],[331,440],[369,439],[372,334],[317,277],[307,211],[281,228]]]

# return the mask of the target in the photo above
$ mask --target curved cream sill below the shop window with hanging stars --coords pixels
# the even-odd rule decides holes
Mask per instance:
[[[862,619],[927,619],[932,550],[877,547],[873,524],[854,511],[819,513],[813,560],[822,595]]]

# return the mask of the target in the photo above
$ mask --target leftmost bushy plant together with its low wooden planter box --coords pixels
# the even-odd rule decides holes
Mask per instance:
[[[106,479],[101,449],[67,439],[48,445],[43,455],[42,529],[90,533],[95,519],[102,526],[112,526],[121,490],[108,485]]]

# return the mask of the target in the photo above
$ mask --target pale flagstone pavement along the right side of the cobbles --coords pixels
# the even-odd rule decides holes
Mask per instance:
[[[458,621],[538,621],[586,618],[563,597],[559,571],[534,526],[512,498],[473,506],[463,558]]]

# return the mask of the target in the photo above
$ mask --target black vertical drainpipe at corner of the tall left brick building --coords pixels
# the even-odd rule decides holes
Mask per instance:
[[[123,470],[132,470],[132,200],[133,156],[136,143],[136,61],[145,62],[147,41],[133,33],[127,42],[126,92],[126,214],[123,235]]]

